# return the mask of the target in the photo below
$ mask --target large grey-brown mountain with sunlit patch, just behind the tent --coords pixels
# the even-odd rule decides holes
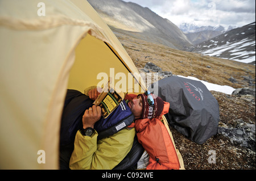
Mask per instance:
[[[115,33],[125,33],[174,49],[183,49],[192,45],[179,27],[147,7],[121,0],[88,0],[88,2]]]

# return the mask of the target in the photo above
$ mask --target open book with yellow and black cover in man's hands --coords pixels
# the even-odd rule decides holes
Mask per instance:
[[[100,95],[93,102],[96,106],[101,107],[102,116],[104,119],[110,115],[111,112],[117,108],[119,103],[125,98],[125,94],[122,91],[117,90],[114,87],[111,87],[110,81],[102,89]]]

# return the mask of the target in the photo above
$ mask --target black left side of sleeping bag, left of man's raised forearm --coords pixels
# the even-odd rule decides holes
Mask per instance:
[[[69,169],[76,132],[82,128],[82,115],[92,107],[93,100],[77,90],[67,90],[60,125],[59,167]]]

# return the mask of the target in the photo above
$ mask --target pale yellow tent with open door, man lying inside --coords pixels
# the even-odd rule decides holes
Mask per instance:
[[[59,168],[67,89],[83,92],[108,74],[126,78],[122,91],[146,90],[126,50],[85,0],[0,1],[0,40],[0,169]]]

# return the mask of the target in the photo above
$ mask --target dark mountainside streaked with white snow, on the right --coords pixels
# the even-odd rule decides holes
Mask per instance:
[[[255,22],[184,50],[255,65]]]

